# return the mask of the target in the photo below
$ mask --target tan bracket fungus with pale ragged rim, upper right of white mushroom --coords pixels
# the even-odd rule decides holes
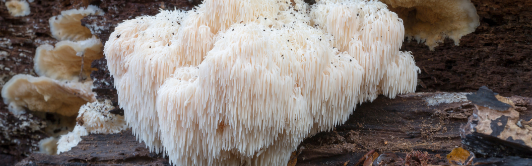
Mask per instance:
[[[425,42],[430,50],[448,37],[454,44],[480,25],[471,0],[381,0],[404,21],[405,35]]]

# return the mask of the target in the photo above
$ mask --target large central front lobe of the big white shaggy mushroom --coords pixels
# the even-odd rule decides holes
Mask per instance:
[[[234,31],[219,34],[202,64],[178,68],[164,82],[156,100],[159,117],[166,117],[159,122],[167,124],[161,126],[162,143],[169,155],[184,156],[173,163],[275,165],[309,136],[313,121],[328,130],[347,120],[356,102],[346,101],[355,101],[359,91],[360,82],[351,80],[361,79],[360,65],[325,40],[306,40],[317,30],[303,23],[291,27],[232,26]],[[279,147],[269,148],[274,145]]]

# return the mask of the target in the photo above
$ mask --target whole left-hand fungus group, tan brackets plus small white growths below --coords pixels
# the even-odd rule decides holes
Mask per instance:
[[[14,114],[30,110],[41,117],[43,112],[59,115],[59,120],[47,123],[45,132],[52,137],[39,144],[40,152],[65,152],[76,146],[82,135],[111,134],[126,128],[123,116],[109,114],[114,109],[110,101],[98,103],[92,92],[90,73],[96,69],[90,65],[103,57],[103,44],[81,26],[81,19],[94,14],[101,15],[103,11],[89,5],[50,18],[51,33],[60,41],[55,47],[48,44],[37,47],[34,69],[39,77],[18,74],[2,88],[4,103]],[[85,123],[74,126],[76,115]],[[67,131],[71,132],[66,134]],[[55,138],[58,136],[61,136],[59,142]]]

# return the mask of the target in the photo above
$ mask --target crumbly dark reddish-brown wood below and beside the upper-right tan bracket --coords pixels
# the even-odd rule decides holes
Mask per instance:
[[[503,96],[532,97],[532,1],[472,0],[480,16],[475,32],[446,39],[435,51],[405,41],[427,88],[418,92],[475,92],[488,86]]]

